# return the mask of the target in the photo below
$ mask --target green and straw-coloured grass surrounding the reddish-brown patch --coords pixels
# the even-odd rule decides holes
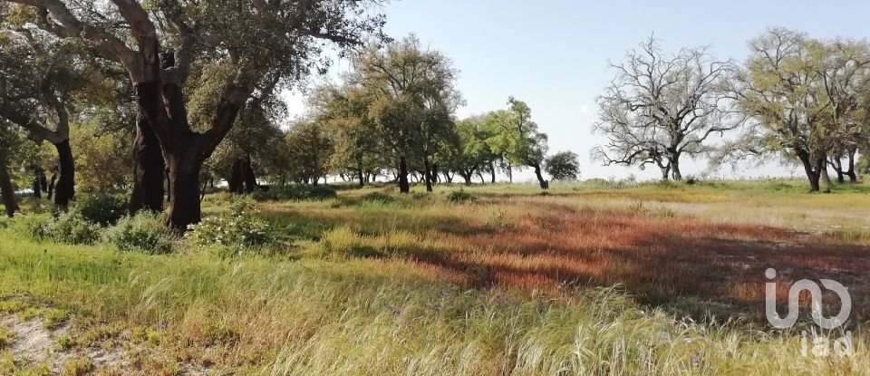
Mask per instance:
[[[478,198],[464,204],[447,202],[459,186],[389,201],[364,199],[384,188],[347,189],[330,200],[262,204],[282,249],[226,259],[192,249],[142,255],[36,243],[0,229],[0,319],[69,324],[53,340],[58,351],[121,343],[143,374],[192,365],[311,375],[868,374],[870,338],[860,325],[854,357],[807,357],[797,332],[759,332],[728,317],[694,322],[639,303],[621,285],[565,284],[556,294],[469,288],[407,257],[476,255],[484,250],[463,239],[546,229],[554,226],[549,217],[532,216],[556,209],[729,223],[757,214],[787,228],[826,227],[838,243],[870,243],[853,217],[870,207],[864,186],[813,196],[798,186],[554,184],[539,197],[531,186],[498,185],[462,188]],[[223,199],[208,199],[206,212],[221,210]],[[3,343],[14,334],[5,333],[0,373],[43,370],[8,366]],[[73,359],[68,374],[102,370]]]

